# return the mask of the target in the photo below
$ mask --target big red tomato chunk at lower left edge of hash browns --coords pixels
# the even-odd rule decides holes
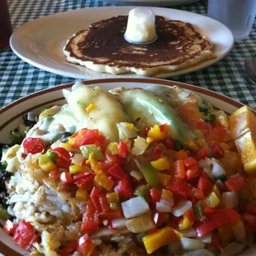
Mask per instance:
[[[31,239],[35,235],[35,228],[31,223],[21,220],[17,226],[17,230],[13,235],[13,240],[19,244],[22,248],[26,248],[30,244]]]

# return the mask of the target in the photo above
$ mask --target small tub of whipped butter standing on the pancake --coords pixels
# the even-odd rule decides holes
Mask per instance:
[[[143,44],[156,40],[154,12],[135,8],[129,12],[125,38],[130,43]]]

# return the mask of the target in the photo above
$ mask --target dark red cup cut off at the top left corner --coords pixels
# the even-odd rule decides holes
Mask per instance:
[[[12,35],[12,24],[8,10],[7,0],[0,0],[0,51],[9,46]]]

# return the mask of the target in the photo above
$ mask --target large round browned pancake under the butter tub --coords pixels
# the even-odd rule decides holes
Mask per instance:
[[[78,31],[64,46],[67,60],[97,72],[154,75],[215,58],[211,42],[190,23],[156,16],[158,40],[134,45],[124,39],[127,19],[111,17]]]

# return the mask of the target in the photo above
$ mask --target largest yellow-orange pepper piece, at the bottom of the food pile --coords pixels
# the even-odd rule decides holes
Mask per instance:
[[[164,245],[178,242],[182,237],[183,235],[177,230],[166,226],[162,230],[156,231],[149,235],[145,235],[143,238],[143,243],[147,253],[152,254],[155,250]]]

